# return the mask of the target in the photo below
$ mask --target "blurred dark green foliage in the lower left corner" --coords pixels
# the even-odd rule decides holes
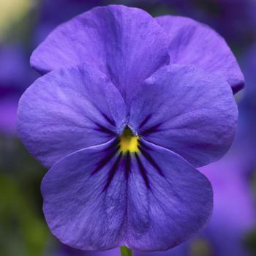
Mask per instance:
[[[16,138],[0,144],[1,255],[40,256],[51,238],[39,192],[45,170]]]

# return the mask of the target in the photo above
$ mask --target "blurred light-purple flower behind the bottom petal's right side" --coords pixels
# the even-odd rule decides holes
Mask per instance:
[[[249,256],[244,238],[256,225],[256,211],[252,189],[244,176],[248,165],[242,157],[241,151],[233,152],[219,162],[200,168],[214,190],[211,221],[195,238],[170,251],[154,253],[154,256]],[[135,255],[146,256],[146,253]]]

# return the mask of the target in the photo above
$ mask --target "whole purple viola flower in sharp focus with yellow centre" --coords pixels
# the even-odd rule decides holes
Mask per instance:
[[[224,40],[191,22],[210,38],[197,45],[195,26],[191,34],[176,26],[172,48],[143,10],[97,7],[59,26],[31,56],[48,74],[21,97],[18,131],[50,167],[43,210],[64,244],[165,250],[206,225],[212,189],[195,167],[230,147],[230,86],[242,75]]]

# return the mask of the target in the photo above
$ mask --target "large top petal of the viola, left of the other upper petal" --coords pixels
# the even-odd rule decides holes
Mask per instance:
[[[48,72],[87,61],[127,99],[134,86],[169,62],[166,41],[162,27],[143,10],[96,7],[57,27],[34,51],[31,65]]]

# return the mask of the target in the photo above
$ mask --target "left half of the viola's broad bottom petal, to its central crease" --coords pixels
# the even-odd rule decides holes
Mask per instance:
[[[127,186],[116,141],[61,159],[42,180],[43,211],[52,233],[77,249],[121,244]]]

